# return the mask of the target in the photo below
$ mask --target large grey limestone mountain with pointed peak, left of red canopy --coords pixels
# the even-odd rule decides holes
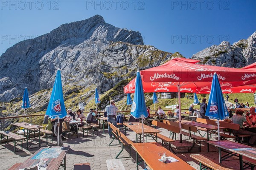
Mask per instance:
[[[23,96],[25,87],[29,95],[52,88],[58,69],[63,85],[95,84],[102,93],[137,69],[170,58],[171,53],[144,45],[139,32],[114,27],[96,15],[7,49],[0,57],[0,101]]]

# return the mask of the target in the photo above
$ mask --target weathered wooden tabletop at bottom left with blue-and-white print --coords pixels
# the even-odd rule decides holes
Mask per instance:
[[[17,167],[17,170],[38,164],[40,158],[44,158],[47,161],[47,170],[58,170],[68,150],[69,147],[41,147],[29,159]]]

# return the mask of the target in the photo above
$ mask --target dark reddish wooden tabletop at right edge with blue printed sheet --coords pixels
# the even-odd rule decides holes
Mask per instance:
[[[255,147],[250,147],[248,145],[236,143],[229,140],[207,141],[207,143],[225,150],[230,150],[231,152],[238,153],[239,155],[246,156],[250,159],[256,160]]]

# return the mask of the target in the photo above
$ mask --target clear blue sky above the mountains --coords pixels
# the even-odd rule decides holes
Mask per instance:
[[[0,54],[15,43],[96,14],[140,31],[146,45],[192,57],[256,31],[255,0],[0,0]]]

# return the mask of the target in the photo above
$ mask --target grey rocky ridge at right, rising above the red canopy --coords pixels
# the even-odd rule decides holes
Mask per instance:
[[[247,40],[239,40],[230,45],[223,41],[194,54],[192,59],[201,60],[206,65],[239,68],[256,62],[256,32]]]

